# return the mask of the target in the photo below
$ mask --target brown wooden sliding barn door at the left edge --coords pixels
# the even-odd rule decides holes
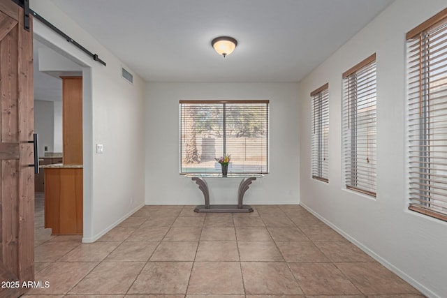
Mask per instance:
[[[6,281],[34,280],[33,36],[23,23],[23,9],[0,0],[0,297],[26,290]]]

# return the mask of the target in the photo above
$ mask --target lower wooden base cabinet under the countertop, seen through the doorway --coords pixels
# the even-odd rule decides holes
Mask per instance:
[[[45,168],[45,228],[82,234],[82,168]]]

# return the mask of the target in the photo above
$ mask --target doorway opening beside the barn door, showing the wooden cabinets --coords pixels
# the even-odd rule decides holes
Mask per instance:
[[[71,90],[73,87],[70,87],[70,91],[67,91],[68,87],[65,84],[67,78],[80,80],[80,84],[75,86],[78,90],[73,92]],[[73,100],[80,101],[74,120]],[[70,109],[69,113],[67,109]],[[66,128],[70,128],[71,133],[75,131],[78,138],[76,144],[66,142],[66,139],[73,140],[71,135],[67,137]],[[34,131],[38,133],[38,157],[41,167],[40,173],[35,175],[34,185],[35,247],[62,234],[66,239],[80,243],[83,226],[82,66],[36,38],[34,38]],[[66,156],[66,152],[73,151],[77,156],[74,160],[73,154]],[[76,170],[68,170],[65,167],[67,163],[79,167]],[[73,174],[73,171],[76,173]],[[67,180],[67,175],[73,179]],[[73,192],[73,188],[64,191],[67,184],[70,188],[75,186],[77,191]],[[36,271],[39,262],[36,255]]]

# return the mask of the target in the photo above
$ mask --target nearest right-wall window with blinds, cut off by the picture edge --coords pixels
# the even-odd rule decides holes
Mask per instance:
[[[406,39],[409,209],[447,221],[447,9]]]

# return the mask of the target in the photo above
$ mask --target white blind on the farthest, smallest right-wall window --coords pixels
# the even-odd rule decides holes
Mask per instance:
[[[312,178],[328,182],[329,84],[312,91]]]

